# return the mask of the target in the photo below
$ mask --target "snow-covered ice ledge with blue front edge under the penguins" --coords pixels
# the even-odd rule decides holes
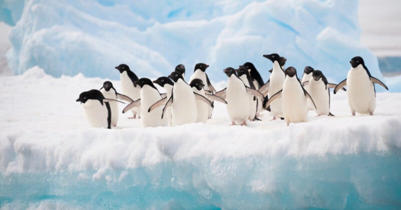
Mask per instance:
[[[228,126],[91,128],[79,93],[104,79],[55,78],[35,67],[0,76],[0,205],[4,208],[399,208],[401,93],[377,93],[375,115]],[[112,80],[117,91],[121,83]],[[216,88],[224,87],[224,82]],[[123,108],[123,105],[119,107]]]

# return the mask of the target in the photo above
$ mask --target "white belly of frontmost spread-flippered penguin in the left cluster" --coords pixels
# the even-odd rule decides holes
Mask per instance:
[[[182,79],[179,79],[173,87],[173,100],[171,103],[172,125],[196,122],[197,109],[195,95],[192,88]]]

